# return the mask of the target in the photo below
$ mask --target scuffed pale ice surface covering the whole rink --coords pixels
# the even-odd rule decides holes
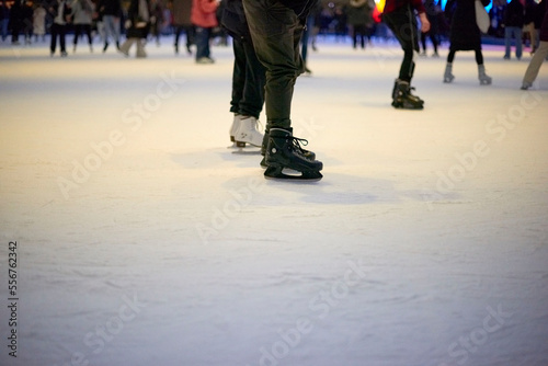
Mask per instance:
[[[492,85],[471,53],[444,84],[445,44],[398,111],[395,43],[318,47],[324,178],[294,184],[227,149],[230,47],[2,44],[0,364],[548,365],[546,62],[521,91],[530,56],[484,46]]]

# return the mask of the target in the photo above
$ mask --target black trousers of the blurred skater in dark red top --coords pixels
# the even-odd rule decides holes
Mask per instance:
[[[383,19],[403,49],[403,60],[398,79],[411,82],[414,72],[413,53],[419,52],[416,18],[410,7],[403,7],[384,14]]]

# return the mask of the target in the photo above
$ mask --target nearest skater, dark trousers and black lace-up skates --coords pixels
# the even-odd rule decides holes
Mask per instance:
[[[294,137],[290,108],[295,81],[305,71],[299,42],[313,0],[243,0],[258,59],[266,69],[266,129],[263,145],[266,179],[318,181],[321,161]],[[289,174],[287,169],[297,174]],[[286,170],[286,171],[284,171]]]

